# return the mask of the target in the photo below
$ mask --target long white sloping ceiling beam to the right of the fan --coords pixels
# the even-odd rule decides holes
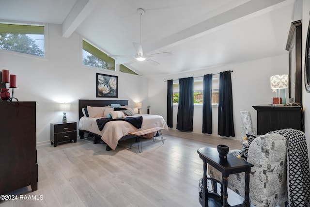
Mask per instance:
[[[172,34],[150,44],[144,44],[143,47],[147,51],[154,51],[159,48],[169,48],[171,46],[179,45],[188,40],[205,35],[208,32],[214,32],[215,30],[218,30],[223,26],[227,26],[228,23],[232,23],[238,19],[253,16],[253,13],[255,14],[260,12],[283,1],[287,0],[250,0],[224,13],[211,17],[199,24],[186,28],[181,32]]]

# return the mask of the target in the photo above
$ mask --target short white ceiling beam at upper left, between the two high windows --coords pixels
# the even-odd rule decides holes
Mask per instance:
[[[62,23],[62,36],[66,38],[70,37],[84,19],[93,11],[97,3],[98,0],[77,0]]]

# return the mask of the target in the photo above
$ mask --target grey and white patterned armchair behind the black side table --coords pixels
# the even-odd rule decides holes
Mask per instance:
[[[252,163],[249,197],[256,207],[275,207],[288,200],[286,159],[288,141],[279,134],[257,137],[248,149],[248,162]],[[222,180],[222,175],[208,165],[209,176]],[[244,173],[229,175],[228,188],[244,197]]]

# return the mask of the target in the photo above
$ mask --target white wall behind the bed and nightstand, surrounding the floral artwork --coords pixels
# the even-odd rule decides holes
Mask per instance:
[[[70,38],[63,38],[61,34],[61,25],[48,25],[45,59],[0,52],[0,70],[7,69],[17,77],[14,96],[19,101],[36,101],[38,144],[49,143],[50,123],[62,122],[58,103],[71,103],[67,119],[78,122],[78,99],[97,99],[96,73],[118,76],[118,98],[115,99],[128,99],[129,104],[142,101],[145,106],[142,112],[146,113],[146,78],[83,66],[80,35],[73,33]]]

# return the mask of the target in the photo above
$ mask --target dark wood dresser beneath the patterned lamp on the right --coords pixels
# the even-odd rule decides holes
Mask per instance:
[[[300,106],[253,106],[257,111],[257,134],[283,128],[303,131],[303,112]]]

